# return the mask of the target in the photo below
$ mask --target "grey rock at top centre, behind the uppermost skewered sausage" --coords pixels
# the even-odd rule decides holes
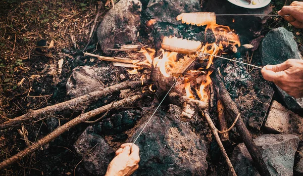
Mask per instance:
[[[180,24],[176,20],[178,15],[199,11],[199,1],[196,0],[153,0],[148,2],[145,12],[160,23]]]

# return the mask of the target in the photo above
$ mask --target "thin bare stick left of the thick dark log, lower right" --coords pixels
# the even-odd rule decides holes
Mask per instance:
[[[205,118],[206,118],[206,120],[207,120],[207,122],[208,122],[208,124],[209,124],[209,126],[210,126],[210,128],[212,130],[212,133],[215,136],[215,139],[216,139],[216,141],[217,141],[217,143],[219,145],[219,148],[221,150],[221,153],[222,153],[223,157],[225,158],[225,161],[226,161],[226,163],[228,165],[228,168],[229,168],[230,172],[232,173],[233,176],[236,176],[237,174],[235,172],[235,169],[233,168],[233,166],[232,166],[232,164],[231,164],[231,162],[230,162],[230,160],[228,158],[228,155],[227,155],[227,153],[226,153],[226,151],[224,149],[224,146],[223,146],[223,144],[222,144],[222,142],[220,140],[220,137],[218,135],[218,129],[214,125],[214,123],[213,123],[213,121],[212,121],[212,119],[209,116],[209,114],[208,114],[207,111],[201,111],[201,113],[205,116]]]

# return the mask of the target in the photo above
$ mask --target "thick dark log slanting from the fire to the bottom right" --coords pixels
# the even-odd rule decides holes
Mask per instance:
[[[233,120],[235,120],[235,118],[239,114],[237,105],[230,98],[230,95],[229,95],[228,91],[226,90],[225,85],[224,85],[220,75],[217,72],[213,76],[213,81],[219,87],[220,93],[218,93],[218,95],[220,95],[221,100],[225,105],[227,113]],[[249,131],[246,128],[241,117],[239,117],[235,126],[236,126],[236,129],[237,129],[239,135],[241,136],[252,160],[254,160],[255,166],[257,167],[259,173],[261,175],[265,175],[265,176],[271,175],[262,158],[260,151],[258,150],[255,142],[252,140],[252,138],[249,134]]]

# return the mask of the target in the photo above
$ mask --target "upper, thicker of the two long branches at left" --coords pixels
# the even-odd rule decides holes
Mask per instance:
[[[146,85],[147,84],[147,80],[142,81],[138,80],[138,81],[130,81],[130,82],[123,82],[120,84],[116,84],[116,85],[112,85],[109,87],[106,87],[103,90],[100,91],[96,91],[96,92],[92,92],[89,93],[87,95],[66,101],[66,102],[62,102],[62,103],[58,103],[56,105],[52,105],[52,106],[47,106],[45,108],[42,109],[38,109],[38,110],[30,110],[29,112],[27,112],[24,115],[21,115],[19,117],[16,117],[14,119],[9,119],[8,121],[0,124],[0,129],[6,129],[12,126],[17,126],[17,125],[21,125],[21,123],[25,120],[29,120],[32,118],[40,118],[40,116],[47,116],[50,114],[55,114],[58,113],[60,111],[69,109],[69,110],[77,110],[77,108],[79,108],[78,106],[80,104],[82,104],[83,102],[92,102],[92,101],[96,101],[101,97],[105,97],[108,96],[110,94],[113,94],[115,92],[121,91],[121,90],[125,90],[125,89],[134,89],[137,87],[140,87],[142,85]]]

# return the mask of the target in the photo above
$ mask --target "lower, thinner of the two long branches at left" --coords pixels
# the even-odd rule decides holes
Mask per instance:
[[[118,108],[122,105],[126,105],[129,103],[134,103],[137,100],[139,100],[141,98],[141,96],[137,95],[137,96],[133,96],[133,97],[129,97],[120,101],[117,101],[114,103],[113,108]],[[75,125],[85,122],[88,119],[105,113],[107,112],[109,109],[111,109],[112,104],[108,104],[106,106],[94,109],[92,111],[86,112],[84,114],[79,115],[78,117],[72,119],[71,121],[65,123],[64,125],[56,128],[54,131],[52,131],[50,134],[46,135],[44,138],[38,140],[36,143],[33,143],[31,146],[27,147],[26,149],[20,151],[19,153],[17,153],[16,155],[10,157],[9,159],[4,160],[3,162],[0,163],[0,170],[8,167],[9,165],[21,160],[22,158],[24,158],[26,155],[36,151],[37,149],[39,149],[40,147],[42,147],[43,145],[53,141],[54,139],[56,139],[58,136],[60,136],[61,134],[63,134],[65,131],[69,130],[70,128],[74,127]]]

